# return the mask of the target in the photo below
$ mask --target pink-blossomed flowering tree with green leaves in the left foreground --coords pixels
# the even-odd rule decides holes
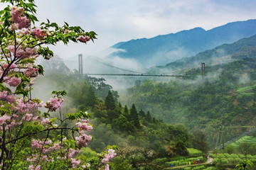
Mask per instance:
[[[94,40],[95,32],[85,32],[79,26],[65,23],[38,21],[33,0],[1,0],[7,3],[0,11],[0,169],[98,169],[112,157],[114,149],[87,164],[80,164],[75,154],[86,147],[92,136],[85,132],[92,130],[90,115],[79,111],[68,113],[65,118],[53,118],[50,112],[60,109],[65,91],[53,91],[53,98],[46,103],[31,97],[31,90],[43,67],[36,65],[40,55],[45,59],[53,57],[48,45],[57,42],[84,42]],[[38,107],[48,112],[41,113]],[[65,121],[78,123],[70,127]],[[70,130],[71,137],[63,132]],[[105,169],[109,169],[108,164]]]

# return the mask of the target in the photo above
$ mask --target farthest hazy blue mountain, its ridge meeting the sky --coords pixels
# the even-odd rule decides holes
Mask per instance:
[[[241,38],[256,34],[256,20],[237,21],[211,30],[193,28],[178,33],[158,35],[154,38],[142,38],[118,42],[112,48],[119,50],[111,55],[132,58],[144,67],[164,65],[169,62],[191,57],[198,52],[232,43]]]

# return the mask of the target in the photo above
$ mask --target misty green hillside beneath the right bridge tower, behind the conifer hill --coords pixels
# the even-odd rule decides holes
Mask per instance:
[[[191,69],[168,83],[142,81],[129,89],[127,103],[149,110],[165,123],[183,123],[192,132],[204,130],[213,147],[220,125],[238,127],[226,131],[226,141],[244,132],[242,126],[255,126],[256,60],[248,57],[207,66],[204,79],[201,69]]]

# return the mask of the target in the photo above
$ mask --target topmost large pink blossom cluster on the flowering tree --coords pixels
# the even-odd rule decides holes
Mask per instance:
[[[11,21],[13,22],[11,30],[18,30],[21,28],[28,28],[31,26],[31,21],[22,16],[24,13],[24,8],[18,6],[11,6]]]

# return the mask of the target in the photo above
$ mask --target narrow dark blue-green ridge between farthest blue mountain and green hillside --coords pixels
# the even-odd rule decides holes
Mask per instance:
[[[232,62],[233,60],[242,60],[249,57],[256,58],[256,35],[252,35],[250,38],[242,38],[231,44],[223,44],[212,50],[206,50],[199,52],[193,57],[185,57],[175,62],[170,62],[165,66],[156,66],[148,69],[148,72],[167,72],[174,70],[182,70],[191,67],[196,67],[201,62],[207,65],[223,64],[226,62]]]

